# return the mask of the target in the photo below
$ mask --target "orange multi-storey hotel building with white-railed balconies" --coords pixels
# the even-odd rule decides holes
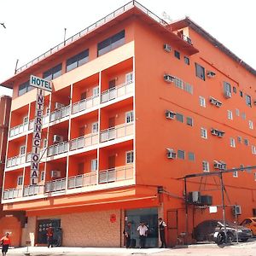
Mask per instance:
[[[36,91],[45,92],[39,183],[30,186]],[[207,218],[222,218],[218,177],[191,173],[255,166],[256,71],[189,18],[161,20],[132,1],[20,67],[13,88],[3,210],[25,211],[20,245],[45,244],[49,225],[62,245],[122,247],[145,221],[147,247],[158,246],[157,218],[168,245]],[[226,218],[256,212],[253,172],[224,175]],[[161,191],[163,189],[163,191]],[[208,195],[208,196],[206,196]],[[189,199],[191,202],[191,199]],[[209,205],[218,211],[209,213]],[[15,236],[15,234],[13,234]]]

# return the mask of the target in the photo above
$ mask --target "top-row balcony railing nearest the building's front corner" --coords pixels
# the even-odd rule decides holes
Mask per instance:
[[[108,102],[120,96],[125,96],[133,91],[132,81],[129,84],[121,84],[102,92],[101,102]]]

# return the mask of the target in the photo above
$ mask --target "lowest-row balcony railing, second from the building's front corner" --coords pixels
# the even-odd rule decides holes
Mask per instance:
[[[83,175],[68,178],[67,189],[77,189],[86,186],[96,185],[96,172],[85,173]]]

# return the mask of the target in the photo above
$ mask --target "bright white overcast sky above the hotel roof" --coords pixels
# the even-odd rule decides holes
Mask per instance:
[[[64,38],[90,26],[129,0],[0,0],[0,84],[18,67]],[[253,0],[139,0],[155,15],[171,20],[189,16],[241,60],[256,69]],[[168,21],[168,20],[166,20]],[[12,91],[0,86],[0,96]]]

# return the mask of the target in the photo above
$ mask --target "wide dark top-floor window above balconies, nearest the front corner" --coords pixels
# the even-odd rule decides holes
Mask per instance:
[[[107,53],[108,51],[119,47],[122,44],[125,44],[124,30],[99,43],[97,46],[98,56],[101,56]]]

